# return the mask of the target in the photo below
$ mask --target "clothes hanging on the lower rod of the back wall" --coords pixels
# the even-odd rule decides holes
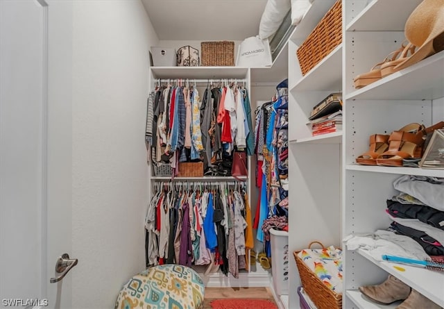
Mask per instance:
[[[146,265],[215,262],[223,274],[237,278],[246,267],[246,228],[251,225],[244,194],[244,183],[237,182],[204,187],[156,183],[145,218]]]

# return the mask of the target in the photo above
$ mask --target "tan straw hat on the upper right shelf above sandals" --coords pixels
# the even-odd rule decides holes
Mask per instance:
[[[424,0],[405,23],[405,36],[418,47],[395,69],[404,69],[444,49],[444,0]]]

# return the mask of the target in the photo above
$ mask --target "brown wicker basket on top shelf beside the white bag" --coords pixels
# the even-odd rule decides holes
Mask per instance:
[[[204,67],[234,66],[234,42],[201,42],[200,54],[202,55],[201,65]]]

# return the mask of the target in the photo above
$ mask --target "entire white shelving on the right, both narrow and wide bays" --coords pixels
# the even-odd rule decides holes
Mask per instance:
[[[370,167],[355,159],[368,150],[368,138],[390,134],[418,122],[444,119],[444,52],[356,90],[353,78],[368,72],[404,41],[404,25],[422,0],[343,0],[343,42],[304,76],[296,51],[334,1],[314,1],[288,42],[289,55],[289,251],[312,240],[344,249],[343,308],[395,308],[366,299],[358,287],[376,284],[387,274],[444,306],[444,274],[390,262],[365,252],[348,251],[341,240],[350,233],[386,229],[386,199],[397,192],[402,175],[444,177],[444,171],[413,167]],[[332,92],[343,92],[343,131],[311,136],[311,108]],[[291,268],[292,267],[292,268]],[[289,278],[289,308],[298,308],[296,263]]]

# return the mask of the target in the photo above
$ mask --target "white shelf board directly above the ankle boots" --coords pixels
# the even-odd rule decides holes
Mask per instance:
[[[443,295],[444,291],[444,272],[434,272],[423,267],[409,266],[401,263],[378,261],[362,249],[358,249],[357,253],[384,269],[389,274],[399,278],[402,282],[417,290],[431,301],[434,301],[439,306],[444,306],[444,298],[439,297]],[[405,272],[401,272],[393,268],[393,266],[402,267],[405,269]]]

